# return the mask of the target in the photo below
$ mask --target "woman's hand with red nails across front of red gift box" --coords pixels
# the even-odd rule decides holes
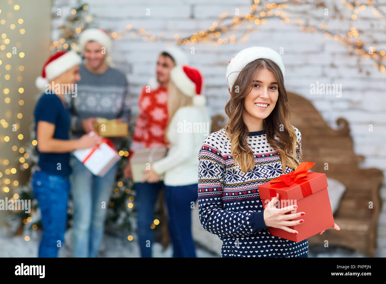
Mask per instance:
[[[287,212],[293,211],[298,206],[291,205],[283,208],[276,208],[275,202],[279,200],[279,194],[268,202],[267,206],[264,209],[264,222],[267,227],[279,228],[289,233],[298,234],[298,231],[289,228],[289,226],[295,226],[304,222],[303,219],[296,221],[289,221],[291,219],[304,216],[304,212],[285,214]],[[302,215],[303,214],[303,215]]]

